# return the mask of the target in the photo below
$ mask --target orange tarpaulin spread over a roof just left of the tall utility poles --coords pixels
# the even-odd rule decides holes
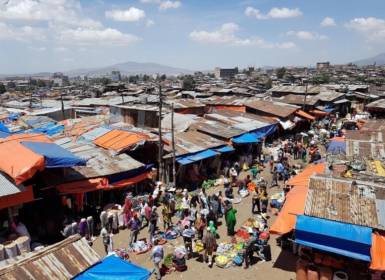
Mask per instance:
[[[105,149],[120,152],[146,138],[148,139],[149,136],[144,133],[113,129],[93,142]]]

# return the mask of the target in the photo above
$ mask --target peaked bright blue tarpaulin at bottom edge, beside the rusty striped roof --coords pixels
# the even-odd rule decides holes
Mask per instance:
[[[76,280],[147,280],[147,269],[126,262],[114,255],[105,258],[93,267],[76,276]]]

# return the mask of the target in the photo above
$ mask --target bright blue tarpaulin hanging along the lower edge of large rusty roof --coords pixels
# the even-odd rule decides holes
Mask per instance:
[[[370,261],[372,228],[297,215],[295,242],[351,258]]]

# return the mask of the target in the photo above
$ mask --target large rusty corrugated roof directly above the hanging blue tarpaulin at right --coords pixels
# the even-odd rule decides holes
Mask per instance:
[[[328,177],[311,176],[305,204],[305,215],[385,229],[384,200],[378,185]],[[381,202],[378,202],[381,201]]]

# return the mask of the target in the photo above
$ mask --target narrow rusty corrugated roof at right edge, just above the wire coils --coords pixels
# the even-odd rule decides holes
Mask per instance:
[[[372,155],[385,157],[385,143],[359,142],[346,140],[346,155],[352,157],[356,154],[361,156]]]

